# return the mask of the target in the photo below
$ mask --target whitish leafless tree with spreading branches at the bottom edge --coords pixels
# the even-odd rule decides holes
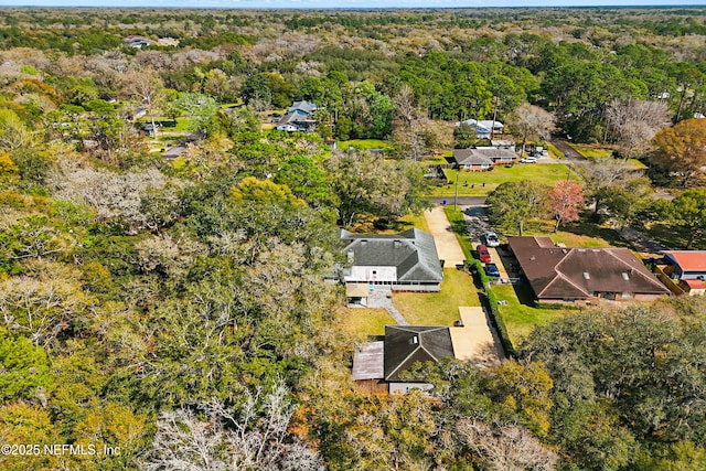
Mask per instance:
[[[288,431],[296,406],[280,382],[274,390],[247,393],[237,413],[222,403],[204,407],[208,420],[189,409],[162,413],[146,469],[322,471],[322,461]]]

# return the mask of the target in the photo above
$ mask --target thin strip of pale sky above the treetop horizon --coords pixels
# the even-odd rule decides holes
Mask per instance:
[[[0,7],[214,9],[385,9],[488,7],[706,6],[706,0],[0,0]]]

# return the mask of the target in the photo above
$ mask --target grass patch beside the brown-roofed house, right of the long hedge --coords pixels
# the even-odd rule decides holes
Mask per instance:
[[[535,327],[545,325],[556,319],[566,315],[565,311],[556,309],[537,309],[526,303],[532,302],[533,295],[528,285],[495,285],[492,287],[498,300],[507,301],[499,304],[498,310],[502,315],[507,335],[515,347],[522,343]],[[518,298],[520,297],[520,298]],[[523,302],[521,302],[521,299]]]

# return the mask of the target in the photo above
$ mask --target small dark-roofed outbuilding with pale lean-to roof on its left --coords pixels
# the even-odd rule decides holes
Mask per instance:
[[[416,362],[438,362],[454,356],[450,328],[429,325],[385,325],[385,339],[356,349],[353,379],[370,393],[429,390],[424,378],[403,378]]]

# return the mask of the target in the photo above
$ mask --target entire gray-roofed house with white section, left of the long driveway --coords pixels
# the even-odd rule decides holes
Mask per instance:
[[[399,234],[354,234],[341,231],[351,266],[347,283],[386,285],[393,290],[439,291],[442,264],[431,234],[411,228]]]

